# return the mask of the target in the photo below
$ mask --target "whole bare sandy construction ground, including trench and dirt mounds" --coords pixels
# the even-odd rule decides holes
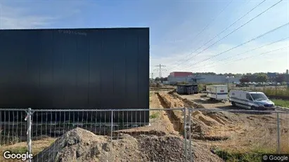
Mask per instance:
[[[32,142],[32,152],[38,157],[54,157],[49,154],[49,148],[59,148],[61,161],[101,161],[104,158],[120,159],[130,161],[131,159],[143,159],[143,161],[180,161],[184,158],[184,124],[191,119],[191,138],[193,158],[195,161],[223,161],[217,156],[216,150],[228,152],[276,152],[277,149],[277,128],[276,114],[264,113],[231,113],[226,109],[238,109],[231,107],[228,102],[211,102],[203,94],[178,95],[169,90],[151,90],[150,108],[200,108],[224,109],[222,112],[193,111],[190,118],[184,120],[184,112],[181,110],[150,111],[150,126],[131,128],[115,131],[117,138],[112,148],[99,146],[98,156],[82,153],[81,156],[75,153],[79,150],[96,151],[94,144],[109,144],[110,137],[92,135],[86,130],[73,130],[65,134],[65,137],[58,138],[58,143],[69,141],[69,137],[79,137],[77,146],[60,147],[56,145],[56,138],[43,137],[41,140]],[[188,111],[186,111],[188,114]],[[280,114],[281,122],[281,152],[289,153],[289,114]],[[85,134],[85,135],[84,135]],[[86,140],[87,138],[87,140]],[[88,140],[88,139],[96,140]],[[97,140],[98,139],[98,140]],[[54,143],[53,143],[54,142]],[[125,144],[124,144],[125,143]],[[53,145],[51,145],[53,144]],[[96,144],[97,145],[97,144]],[[15,150],[23,151],[26,142],[20,142],[8,146],[1,146],[0,151]],[[46,150],[44,150],[46,148]],[[101,149],[100,149],[101,148]],[[106,149],[105,149],[106,148]],[[127,150],[126,153],[122,152]],[[113,150],[113,157],[108,157]],[[163,154],[163,155],[160,155]],[[122,157],[122,158],[121,158]],[[124,158],[125,157],[125,158]],[[59,157],[58,157],[59,158]],[[66,159],[66,160],[65,160]],[[1,159],[0,159],[1,161]],[[116,161],[116,160],[115,160]],[[141,160],[140,160],[141,161]]]

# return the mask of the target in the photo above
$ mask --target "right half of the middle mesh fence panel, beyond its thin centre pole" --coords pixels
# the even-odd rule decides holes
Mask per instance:
[[[122,123],[127,117],[122,114],[126,113],[136,116],[135,119],[141,118],[138,111],[113,112],[112,161],[188,161],[184,143],[184,109],[150,109],[149,114],[143,113],[149,115],[149,125],[137,123],[134,119]]]

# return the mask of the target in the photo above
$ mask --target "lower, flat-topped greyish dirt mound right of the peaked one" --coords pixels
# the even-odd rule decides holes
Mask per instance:
[[[182,161],[184,154],[184,140],[176,136],[148,137],[142,136],[138,139],[140,151],[145,161]],[[188,146],[187,146],[188,147]],[[188,147],[189,148],[189,147]],[[195,161],[222,161],[219,156],[212,154],[199,144],[192,145],[192,156]],[[189,152],[188,152],[189,160]]]

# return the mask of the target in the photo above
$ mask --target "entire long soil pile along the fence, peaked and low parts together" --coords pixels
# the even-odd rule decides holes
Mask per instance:
[[[195,161],[222,161],[207,148],[192,146]],[[44,149],[34,161],[184,161],[184,139],[176,135],[131,137],[121,134],[111,142],[110,137],[94,135],[75,128]]]

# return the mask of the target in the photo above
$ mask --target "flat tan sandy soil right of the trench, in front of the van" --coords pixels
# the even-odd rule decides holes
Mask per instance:
[[[180,95],[202,104],[206,109],[240,109],[229,102],[212,102],[203,94]],[[289,114],[280,114],[281,151],[289,153]],[[193,112],[193,135],[198,142],[210,147],[221,147],[234,151],[253,149],[276,150],[276,114],[231,113],[231,112]],[[204,142],[203,140],[210,140]]]

